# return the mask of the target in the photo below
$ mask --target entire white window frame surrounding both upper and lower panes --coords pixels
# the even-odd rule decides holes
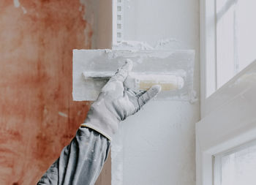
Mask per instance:
[[[214,184],[214,155],[256,140],[256,61],[217,91],[216,1],[200,0],[201,120],[196,124],[197,185]],[[206,91],[214,92],[206,98]]]

